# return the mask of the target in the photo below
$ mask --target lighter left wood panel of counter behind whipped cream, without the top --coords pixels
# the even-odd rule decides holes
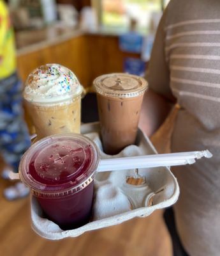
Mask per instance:
[[[87,66],[89,62],[85,36],[77,36],[59,44],[20,54],[17,58],[18,71],[23,81],[26,81],[34,68],[46,63],[60,63],[73,70],[80,83],[85,86],[89,84],[89,67]]]

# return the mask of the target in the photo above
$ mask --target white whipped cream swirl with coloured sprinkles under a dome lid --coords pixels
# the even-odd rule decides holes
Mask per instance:
[[[81,93],[82,86],[70,69],[59,64],[46,64],[27,77],[24,99],[36,103],[54,103]]]

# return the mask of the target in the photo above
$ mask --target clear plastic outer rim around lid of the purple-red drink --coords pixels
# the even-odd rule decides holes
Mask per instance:
[[[91,149],[92,159],[87,168],[87,173],[89,175],[87,175],[87,177],[84,177],[82,180],[80,180],[78,184],[73,184],[72,180],[69,180],[64,184],[48,185],[34,179],[34,177],[31,174],[27,174],[27,170],[31,162],[31,157],[33,157],[34,153],[36,153],[37,150],[39,150],[39,148],[43,145],[43,143],[46,143],[46,141],[49,141],[49,140],[53,140],[54,138],[55,139],[59,139],[59,138],[78,139],[92,146],[92,149]],[[59,198],[61,196],[68,196],[68,195],[72,195],[73,193],[77,193],[78,191],[88,186],[94,180],[94,174],[96,173],[96,170],[98,168],[99,159],[100,159],[100,153],[99,153],[98,146],[96,145],[96,143],[94,143],[94,141],[92,141],[87,136],[84,136],[82,134],[77,134],[77,133],[54,134],[54,135],[47,136],[37,141],[33,145],[31,145],[31,147],[22,156],[22,159],[18,167],[18,172],[20,175],[20,179],[22,180],[22,182],[24,182],[24,184],[26,184],[26,186],[31,188],[33,195],[36,195],[38,197]],[[47,190],[45,188],[47,188]]]

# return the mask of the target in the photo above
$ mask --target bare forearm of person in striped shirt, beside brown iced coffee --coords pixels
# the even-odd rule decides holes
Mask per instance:
[[[173,99],[166,99],[149,89],[143,97],[139,122],[140,129],[147,136],[151,136],[166,119],[173,103]]]

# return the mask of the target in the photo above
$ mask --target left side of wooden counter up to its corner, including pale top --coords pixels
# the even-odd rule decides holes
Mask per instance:
[[[46,32],[38,31],[37,35],[42,39],[40,42],[37,38],[33,44],[17,50],[17,65],[22,81],[26,81],[29,73],[40,65],[59,63],[73,70],[80,82],[87,86],[89,76],[87,75],[87,42],[84,33],[79,30],[63,31],[60,35],[52,30]],[[26,42],[32,40],[30,37],[34,36],[33,31],[29,31],[28,34],[28,36],[23,35],[23,38],[20,36],[20,40],[21,38]]]

